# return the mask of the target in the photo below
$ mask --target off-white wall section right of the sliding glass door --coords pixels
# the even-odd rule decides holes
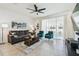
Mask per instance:
[[[64,35],[65,35],[65,39],[75,38],[73,24],[72,24],[72,20],[71,20],[71,15],[66,15],[66,17],[65,17]]]

